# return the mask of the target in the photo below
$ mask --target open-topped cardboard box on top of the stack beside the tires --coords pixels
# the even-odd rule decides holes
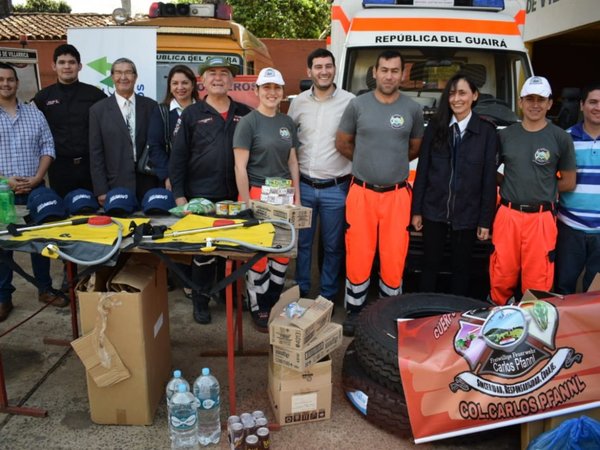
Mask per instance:
[[[333,303],[323,297],[316,300],[298,299],[298,286],[284,292],[271,309],[269,317],[269,342],[289,349],[302,349],[331,321]],[[302,317],[290,319],[282,316],[285,307],[297,301],[306,311]]]

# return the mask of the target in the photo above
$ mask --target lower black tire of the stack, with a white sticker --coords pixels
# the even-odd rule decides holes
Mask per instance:
[[[391,391],[368,377],[358,362],[353,342],[344,354],[342,387],[346,399],[369,422],[402,438],[412,437],[404,394]],[[356,391],[362,392],[368,399],[366,414],[350,399]]]

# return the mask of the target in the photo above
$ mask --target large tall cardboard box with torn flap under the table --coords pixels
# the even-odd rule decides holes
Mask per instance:
[[[98,387],[88,373],[90,414],[99,424],[150,425],[171,370],[166,270],[148,254],[126,255],[121,267],[101,270],[93,285],[78,287],[82,334],[102,322],[98,302],[108,298],[106,337],[131,374]],[[107,297],[107,286],[120,292]]]

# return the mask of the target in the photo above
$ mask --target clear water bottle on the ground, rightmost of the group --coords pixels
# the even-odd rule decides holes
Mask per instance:
[[[194,381],[194,395],[198,401],[198,442],[204,446],[217,444],[221,439],[219,382],[207,367]]]

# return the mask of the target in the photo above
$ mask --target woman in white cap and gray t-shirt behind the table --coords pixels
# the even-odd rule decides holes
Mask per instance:
[[[233,135],[235,181],[240,200],[248,206],[251,198],[260,198],[266,177],[291,179],[294,203],[300,205],[296,126],[279,112],[284,84],[278,70],[262,69],[256,80],[259,105],[242,117]],[[283,290],[288,262],[288,258],[263,258],[246,275],[250,311],[259,331],[268,330],[269,313]]]

